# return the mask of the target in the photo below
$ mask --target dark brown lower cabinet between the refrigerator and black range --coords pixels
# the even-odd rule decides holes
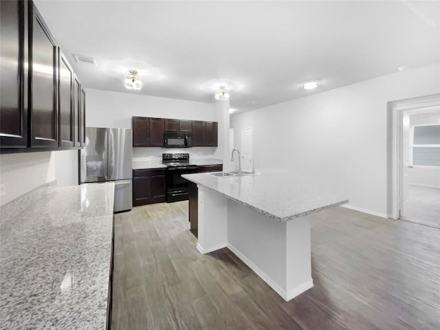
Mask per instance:
[[[133,170],[133,206],[166,201],[165,168]]]

